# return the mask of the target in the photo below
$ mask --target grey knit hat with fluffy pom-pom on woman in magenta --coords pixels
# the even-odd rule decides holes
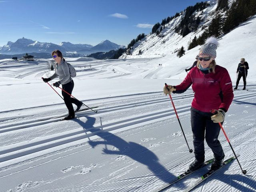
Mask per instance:
[[[216,49],[218,45],[219,42],[214,36],[207,38],[204,45],[202,45],[202,47],[200,48],[199,56],[208,55],[215,59],[217,55]]]

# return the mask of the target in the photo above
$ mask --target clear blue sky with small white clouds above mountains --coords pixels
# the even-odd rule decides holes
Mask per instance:
[[[0,46],[28,38],[95,46],[127,45],[200,0],[0,0]]]

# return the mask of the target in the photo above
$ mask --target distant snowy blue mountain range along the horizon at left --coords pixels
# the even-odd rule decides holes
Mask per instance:
[[[118,50],[119,48],[124,48],[123,45],[118,45],[109,40],[105,40],[92,46],[90,44],[72,44],[70,42],[62,42],[60,45],[38,42],[26,38],[18,39],[16,42],[10,42],[0,48],[0,54],[22,54],[31,52],[45,52],[51,53],[53,50],[58,49],[62,53],[79,53],[79,54],[91,54],[95,52],[107,52],[110,50]]]

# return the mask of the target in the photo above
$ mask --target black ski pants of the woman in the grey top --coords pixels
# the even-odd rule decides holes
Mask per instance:
[[[65,90],[66,92],[68,92],[70,95],[72,94],[73,88],[74,88],[74,81],[73,80],[62,85],[62,89]],[[74,98],[71,98],[71,96],[69,94],[65,93],[63,90],[61,91],[61,94],[62,94],[62,96],[64,98],[64,102],[65,102],[65,104],[68,108],[68,113],[70,115],[74,115],[75,112],[74,112],[74,108],[73,108],[72,103],[78,105],[80,103],[80,101],[78,101]]]

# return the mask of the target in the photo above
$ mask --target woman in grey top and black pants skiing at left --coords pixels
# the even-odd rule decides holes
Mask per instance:
[[[74,81],[70,76],[68,64],[65,62],[65,59],[62,56],[62,52],[60,52],[59,50],[54,50],[52,52],[52,58],[56,61],[55,73],[50,78],[43,78],[43,81],[48,82],[59,76],[60,80],[58,82],[55,82],[53,85],[55,87],[58,87],[60,86],[60,84],[62,84],[62,89],[71,95],[72,90],[74,88]],[[75,112],[72,103],[76,104],[76,110],[79,110],[82,106],[82,102],[74,98],[71,98],[70,95],[66,92],[61,91],[62,96],[64,98],[64,102],[68,108],[68,116],[66,116],[64,120],[69,120],[74,119],[75,117]]]

